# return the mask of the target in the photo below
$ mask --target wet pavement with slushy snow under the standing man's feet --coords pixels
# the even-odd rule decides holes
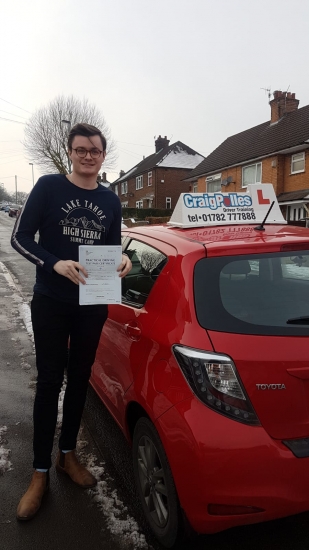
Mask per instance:
[[[85,422],[79,434],[78,451],[82,462],[97,477],[97,488],[83,491],[52,467],[51,489],[37,516],[29,522],[16,520],[17,504],[33,472],[32,408],[36,367],[30,296],[19,284],[23,267],[17,259],[16,271],[14,266],[13,269],[18,277],[12,269],[9,271],[5,261],[6,254],[10,253],[7,251],[0,243],[0,549],[149,548],[135,520],[119,500]],[[10,267],[12,265],[10,257]],[[63,392],[60,406],[62,397]],[[56,453],[57,434],[54,462]]]

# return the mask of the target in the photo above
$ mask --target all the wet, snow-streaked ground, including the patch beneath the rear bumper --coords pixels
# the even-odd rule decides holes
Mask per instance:
[[[142,517],[133,483],[131,450],[91,388],[79,452],[99,480],[97,488],[83,492],[52,468],[51,489],[37,517],[25,523],[15,519],[17,503],[32,471],[36,370],[29,316],[35,268],[11,248],[13,224],[13,219],[0,212],[0,548],[161,550]],[[62,394],[60,405],[61,398]],[[235,528],[198,537],[184,548],[307,550],[308,519],[304,513]]]

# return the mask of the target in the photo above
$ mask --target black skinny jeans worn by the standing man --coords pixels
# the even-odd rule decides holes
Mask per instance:
[[[33,467],[50,468],[64,369],[67,367],[67,386],[59,448],[70,450],[76,447],[107,306],[72,305],[35,293],[31,317],[38,370],[33,411]]]

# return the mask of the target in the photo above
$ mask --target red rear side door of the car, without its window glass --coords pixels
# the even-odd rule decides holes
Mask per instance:
[[[146,244],[154,245],[152,239]],[[162,243],[169,261],[155,282],[145,307],[110,305],[109,315],[102,331],[100,345],[92,369],[92,378],[109,401],[117,421],[124,425],[124,395],[135,379],[142,364],[155,355],[152,327],[165,300],[168,281],[176,258],[176,250]],[[156,296],[160,296],[160,300]],[[149,310],[152,312],[149,315]],[[115,369],[119,365],[121,368]]]

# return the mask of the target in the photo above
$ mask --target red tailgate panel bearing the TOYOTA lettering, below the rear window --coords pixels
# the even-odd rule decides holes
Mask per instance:
[[[308,337],[209,331],[214,348],[233,358],[259,420],[275,439],[309,437]]]

